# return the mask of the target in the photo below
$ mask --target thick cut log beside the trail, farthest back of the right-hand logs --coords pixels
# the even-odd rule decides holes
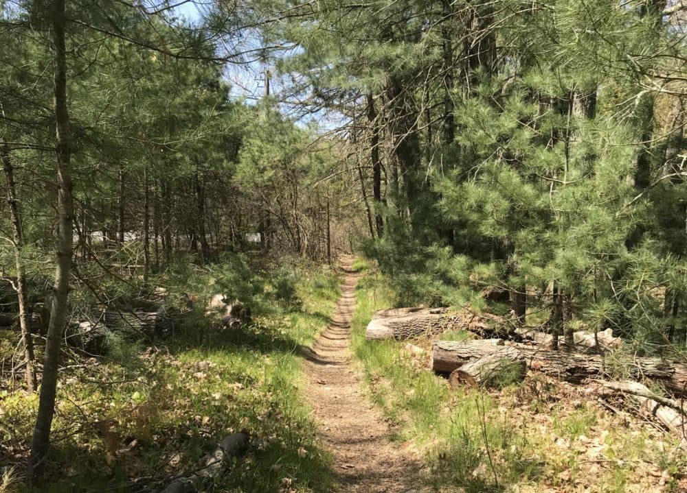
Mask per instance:
[[[374,313],[365,330],[365,339],[413,339],[422,335],[437,335],[460,325],[460,317],[447,309],[421,307],[396,308]]]

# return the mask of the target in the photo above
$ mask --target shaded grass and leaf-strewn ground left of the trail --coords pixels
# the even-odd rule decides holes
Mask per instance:
[[[300,348],[326,326],[339,278],[291,274],[293,293],[264,279],[252,324],[221,329],[199,316],[153,354],[117,341],[109,359],[64,372],[47,472],[32,485],[19,474],[14,490],[133,491],[132,479],[194,470],[223,436],[244,431],[253,446],[217,491],[277,492],[286,483],[331,491],[330,457],[315,444],[301,394]],[[0,396],[0,467],[25,455],[36,405],[32,396]]]

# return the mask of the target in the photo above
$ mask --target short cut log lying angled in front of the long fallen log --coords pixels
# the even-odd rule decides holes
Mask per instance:
[[[521,381],[525,377],[525,370],[525,362],[522,361],[517,349],[500,346],[491,354],[485,354],[453,370],[449,376],[449,384],[452,389],[457,389],[461,385],[494,386],[500,383],[499,378],[502,376],[509,381]]]

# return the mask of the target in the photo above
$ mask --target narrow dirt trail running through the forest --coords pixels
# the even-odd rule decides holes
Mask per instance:
[[[341,492],[405,493],[420,489],[420,463],[390,441],[379,409],[365,397],[350,365],[350,324],[359,274],[343,263],[346,280],[333,320],[308,354],[306,396],[319,422],[319,440],[334,455]]]

